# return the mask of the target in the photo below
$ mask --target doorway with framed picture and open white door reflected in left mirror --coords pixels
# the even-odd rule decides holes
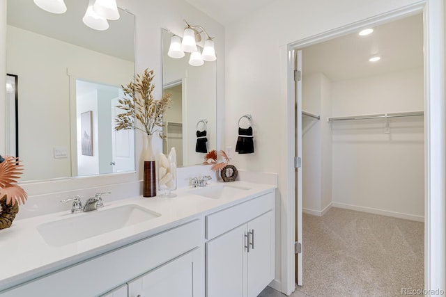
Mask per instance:
[[[116,86],[76,80],[77,162],[75,175],[98,175],[134,170],[134,130],[115,131]]]

